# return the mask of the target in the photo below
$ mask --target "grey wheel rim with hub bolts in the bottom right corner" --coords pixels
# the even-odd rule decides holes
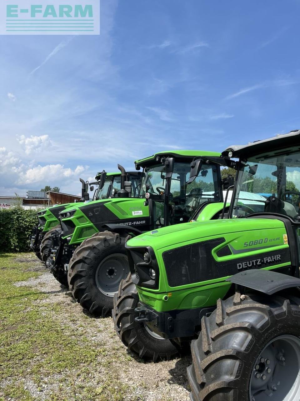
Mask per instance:
[[[300,340],[284,335],[274,338],[256,360],[250,379],[250,401],[300,399]]]

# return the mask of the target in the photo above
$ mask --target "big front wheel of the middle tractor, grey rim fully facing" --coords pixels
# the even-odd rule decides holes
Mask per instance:
[[[130,235],[105,231],[85,239],[74,251],[68,267],[68,284],[82,308],[108,315],[114,293],[130,269],[125,243]]]

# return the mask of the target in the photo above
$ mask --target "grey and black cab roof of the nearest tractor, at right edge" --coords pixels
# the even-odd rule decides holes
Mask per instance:
[[[232,145],[228,146],[222,156],[228,156],[228,152],[232,152],[233,158],[247,159],[251,156],[264,154],[267,156],[276,156],[282,152],[294,148],[300,149],[300,130],[294,130],[288,134],[278,134],[272,138],[261,141],[249,142],[247,145]]]

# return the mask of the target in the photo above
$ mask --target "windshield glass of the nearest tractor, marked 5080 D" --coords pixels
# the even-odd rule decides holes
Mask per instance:
[[[300,205],[300,153],[251,158],[238,172],[232,218],[280,213],[296,219]]]

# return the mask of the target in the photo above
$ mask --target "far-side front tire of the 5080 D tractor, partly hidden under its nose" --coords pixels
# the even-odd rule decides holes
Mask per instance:
[[[136,286],[132,283],[131,274],[120,282],[119,291],[114,295],[112,318],[120,340],[132,352],[142,359],[153,362],[161,359],[170,360],[178,355],[178,350],[170,342],[157,336],[134,318],[138,316],[134,309],[139,302]]]

